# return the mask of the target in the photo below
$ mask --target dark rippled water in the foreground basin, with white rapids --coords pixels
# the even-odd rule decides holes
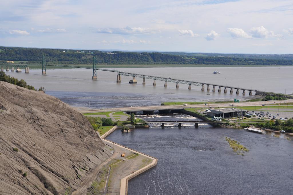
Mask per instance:
[[[141,115],[144,120],[197,120],[187,115]],[[225,136],[249,149],[236,154]],[[129,195],[293,194],[293,142],[243,129],[193,125],[116,130],[107,139],[158,158],[156,167],[129,181]]]

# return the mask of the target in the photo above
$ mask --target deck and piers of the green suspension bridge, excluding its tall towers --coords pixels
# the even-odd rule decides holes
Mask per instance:
[[[205,90],[205,85],[207,85],[207,91],[209,91],[209,86],[213,86],[212,91],[216,91],[215,86],[218,87],[218,92],[221,92],[221,87],[224,88],[224,93],[227,93],[227,88],[230,88],[230,93],[233,93],[233,89],[236,89],[236,94],[239,94],[239,90],[242,90],[242,94],[245,94],[245,91],[249,91],[249,95],[252,95],[252,91],[255,91],[256,93],[261,93],[262,91],[258,90],[253,90],[253,89],[248,89],[248,88],[241,88],[241,87],[233,87],[233,86],[228,86],[228,85],[218,85],[215,83],[203,83],[203,82],[197,82],[197,81],[189,81],[189,80],[180,80],[180,79],[175,79],[175,78],[166,78],[166,77],[157,77],[157,76],[151,76],[151,75],[143,75],[143,74],[137,74],[137,73],[128,73],[128,72],[121,72],[119,70],[110,70],[110,69],[104,69],[104,68],[91,68],[91,67],[82,67],[78,65],[61,65],[61,64],[0,64],[1,65],[1,71],[4,71],[4,66],[6,66],[6,71],[9,71],[9,66],[11,67],[17,67],[17,70],[20,67],[25,67],[25,72],[29,73],[29,66],[42,66],[42,67],[64,67],[64,68],[85,68],[85,69],[92,69],[93,71],[93,79],[97,79],[96,76],[94,76],[94,73],[96,74],[96,70],[100,71],[108,71],[108,72],[115,72],[117,73],[117,82],[121,82],[121,75],[124,76],[132,76],[132,80],[130,80],[130,83],[137,83],[135,80],[135,77],[138,78],[143,78],[143,85],[145,85],[145,79],[152,79],[153,85],[156,86],[156,80],[161,80],[164,81],[164,87],[167,87],[167,82],[172,82],[176,83],[176,88],[179,88],[179,83],[180,84],[186,84],[188,85],[188,89],[191,89],[191,85],[196,85],[196,86],[201,86],[202,91]],[[45,71],[42,72],[42,74],[46,74],[46,68],[44,69]]]

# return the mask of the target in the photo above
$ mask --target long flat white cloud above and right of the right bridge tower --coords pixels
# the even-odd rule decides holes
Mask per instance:
[[[154,30],[152,28],[140,28],[129,26],[125,28],[99,28],[97,33],[110,33],[110,34],[154,34],[160,32],[159,30]]]

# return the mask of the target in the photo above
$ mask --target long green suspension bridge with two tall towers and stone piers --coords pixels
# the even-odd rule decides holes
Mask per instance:
[[[239,90],[242,90],[242,94],[245,94],[246,91],[249,91],[249,95],[252,95],[252,92],[255,92],[255,95],[262,93],[262,91],[256,90],[256,89],[248,89],[248,88],[240,88],[240,87],[234,87],[234,86],[228,86],[228,85],[217,85],[214,83],[205,83],[205,82],[197,82],[197,81],[190,81],[190,80],[180,80],[180,79],[173,79],[173,78],[166,78],[166,77],[158,77],[158,76],[151,76],[151,75],[144,75],[144,74],[138,74],[138,73],[128,73],[128,72],[121,72],[119,70],[111,70],[111,69],[104,69],[104,68],[97,68],[97,58],[93,57],[93,67],[83,67],[78,65],[63,65],[63,64],[46,64],[46,58],[43,55],[42,56],[42,63],[40,64],[0,64],[1,71],[4,71],[4,67],[6,67],[6,71],[9,72],[9,67],[11,67],[11,72],[21,72],[21,67],[25,67],[25,73],[29,73],[29,67],[31,66],[42,66],[42,75],[46,75],[46,67],[64,67],[64,68],[85,68],[85,69],[91,69],[93,71],[93,80],[97,80],[97,71],[108,71],[108,72],[115,72],[117,73],[116,82],[121,82],[121,76],[130,76],[132,77],[132,80],[129,81],[129,83],[134,84],[137,83],[136,78],[142,78],[142,85],[146,84],[146,79],[153,80],[153,86],[156,86],[156,80],[164,81],[164,87],[167,87],[167,83],[176,83],[176,88],[179,88],[179,84],[185,84],[188,85],[188,89],[191,89],[191,85],[200,86],[201,90],[205,90],[205,85],[207,86],[207,91],[210,90],[210,86],[212,86],[212,91],[216,91],[216,87],[218,88],[217,91],[221,92],[222,88],[224,89],[224,93],[227,93],[227,89],[230,89],[230,93],[233,93],[233,89],[236,90],[236,94],[239,94]],[[14,67],[17,67],[16,70],[14,70]]]

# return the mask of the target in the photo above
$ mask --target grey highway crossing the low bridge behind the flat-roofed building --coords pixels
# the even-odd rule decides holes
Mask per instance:
[[[259,102],[242,102],[242,103],[233,103],[234,107],[237,106],[262,106],[265,105],[272,105],[280,103],[291,103],[291,100],[270,100],[270,101],[259,101]],[[194,104],[194,105],[171,105],[171,106],[137,106],[137,107],[120,107],[120,108],[105,108],[105,109],[79,109],[81,113],[94,113],[94,112],[117,112],[117,111],[124,111],[124,112],[136,112],[136,111],[153,111],[153,110],[182,110],[184,108],[198,108],[198,107],[231,107],[231,103],[215,103],[215,104]],[[265,109],[265,106],[263,106]]]

